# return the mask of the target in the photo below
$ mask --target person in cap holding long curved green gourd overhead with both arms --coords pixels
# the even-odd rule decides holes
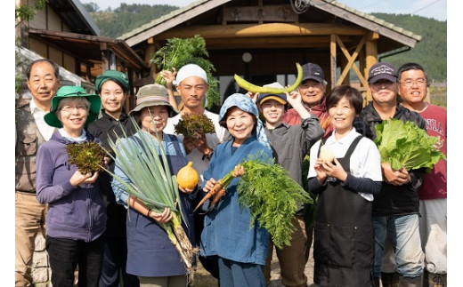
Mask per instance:
[[[264,87],[283,88],[279,83],[267,84]],[[248,95],[259,107],[260,113],[265,119],[265,133],[270,140],[275,162],[286,169],[289,176],[299,185],[302,182],[302,166],[305,155],[310,147],[320,140],[323,135],[318,117],[313,116],[303,105],[302,97],[298,92],[286,92],[285,94],[252,94]],[[283,115],[290,104],[302,119],[301,124],[288,125],[283,122]],[[304,206],[296,211],[293,224],[296,231],[292,235],[290,246],[282,249],[276,248],[280,261],[281,282],[285,286],[305,287],[307,277],[304,274],[305,264],[309,259],[309,251],[312,244],[312,232],[306,232],[304,220]],[[271,278],[273,244],[269,243],[269,253],[264,268],[267,284]]]

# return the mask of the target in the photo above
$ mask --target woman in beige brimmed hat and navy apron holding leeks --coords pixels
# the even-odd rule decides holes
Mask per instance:
[[[176,174],[188,163],[182,141],[175,135],[163,132],[167,118],[176,114],[178,111],[169,103],[166,87],[160,84],[142,86],[136,94],[136,107],[129,113],[130,116],[134,116],[141,130],[129,138],[118,140],[118,156],[114,169],[114,179],[117,180],[112,181],[112,189],[118,203],[128,209],[126,272],[137,275],[142,287],[184,287],[187,286],[188,274],[191,271],[183,264],[183,259],[162,227],[173,219],[173,211],[168,207],[162,212],[150,209],[141,199],[129,195],[122,183],[136,185],[136,179],[127,174],[127,168],[133,169],[131,165],[134,163],[131,160],[134,161],[138,153],[148,162],[148,156],[155,154],[147,155],[149,153],[145,149],[153,146],[157,149],[158,155],[161,154],[161,147],[165,150],[171,174]],[[134,147],[138,150],[124,149],[131,145],[131,141],[140,142],[139,146]],[[149,146],[152,143],[153,146]],[[142,171],[137,172],[142,176]],[[179,189],[180,206],[187,221],[185,223],[182,220],[182,226],[191,245],[195,246],[192,200],[197,194],[197,188]],[[155,190],[155,187],[152,187],[152,190]]]

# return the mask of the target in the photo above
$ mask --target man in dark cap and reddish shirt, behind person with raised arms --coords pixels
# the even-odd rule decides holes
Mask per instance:
[[[317,116],[320,120],[321,127],[325,130],[323,137],[326,137],[333,131],[329,122],[329,115],[325,105],[325,92],[327,81],[325,74],[319,65],[306,63],[302,66],[303,79],[299,84],[298,92],[302,96],[305,109]],[[290,108],[283,117],[283,122],[287,124],[301,124],[301,116],[296,109]]]

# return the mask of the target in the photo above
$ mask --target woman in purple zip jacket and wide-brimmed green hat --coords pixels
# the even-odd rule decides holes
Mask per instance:
[[[58,128],[37,150],[37,201],[48,203],[46,250],[53,286],[72,286],[78,266],[82,286],[98,286],[102,272],[106,207],[98,171],[83,173],[69,163],[67,147],[98,142],[85,126],[100,112],[98,95],[63,86],[52,100],[45,123]]]

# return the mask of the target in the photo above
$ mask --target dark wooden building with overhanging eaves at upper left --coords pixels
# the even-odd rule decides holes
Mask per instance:
[[[34,4],[34,0],[16,0],[16,4]],[[134,82],[150,72],[150,66],[125,41],[99,36],[100,31],[78,0],[48,0],[45,9],[34,18],[16,27],[16,51],[34,55],[22,57],[17,73],[24,76],[28,62],[43,57],[56,62],[74,76],[61,79],[61,84],[78,84],[93,92],[95,77],[107,69],[123,71]],[[18,61],[18,57],[17,57]],[[77,78],[76,78],[77,76]],[[63,81],[64,80],[64,81]],[[127,108],[134,101],[133,89]]]

